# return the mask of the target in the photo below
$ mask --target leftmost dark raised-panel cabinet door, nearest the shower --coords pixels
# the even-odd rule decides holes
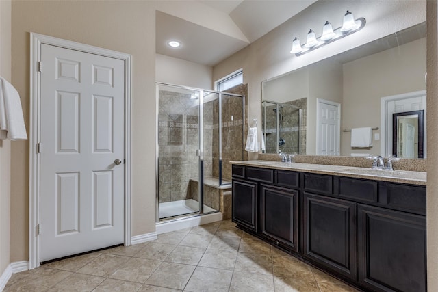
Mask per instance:
[[[233,179],[233,222],[257,232],[257,183]]]

